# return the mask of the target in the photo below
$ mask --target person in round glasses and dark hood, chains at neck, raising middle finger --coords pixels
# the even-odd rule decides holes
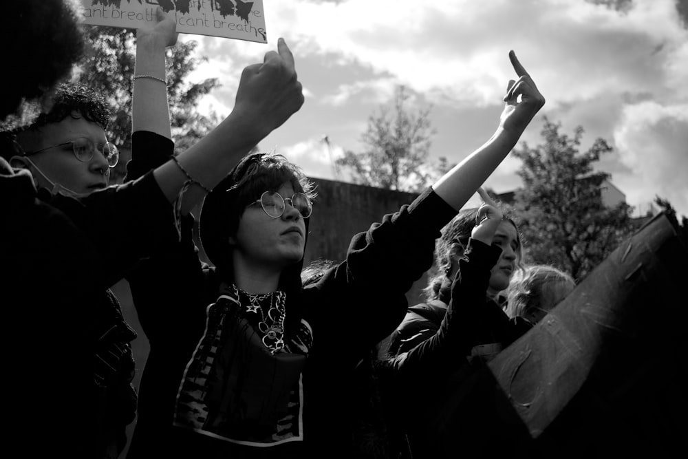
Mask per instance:
[[[440,229],[544,105],[510,59],[519,79],[509,82],[495,135],[410,205],[354,235],[346,259],[308,287],[301,268],[314,184],[275,153],[244,157],[206,195],[197,236],[212,266],[197,257],[191,217],[180,244],[142,261],[129,283],[151,349],[130,459],[329,457],[333,445],[338,457],[355,457],[356,363],[403,319],[405,292],[431,266]],[[157,116],[135,110],[134,129],[166,113],[166,105]],[[157,159],[132,159],[147,161]]]

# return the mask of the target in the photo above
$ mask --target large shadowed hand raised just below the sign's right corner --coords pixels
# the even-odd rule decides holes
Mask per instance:
[[[281,126],[303,105],[303,87],[297,79],[294,56],[283,39],[277,52],[266,53],[262,64],[244,68],[233,116],[246,132],[261,140]]]

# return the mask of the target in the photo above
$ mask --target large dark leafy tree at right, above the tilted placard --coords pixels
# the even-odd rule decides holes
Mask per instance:
[[[634,231],[632,207],[603,204],[601,187],[611,175],[593,171],[593,165],[612,147],[598,138],[581,153],[583,128],[569,137],[559,133],[560,127],[545,118],[544,143],[534,148],[524,143],[513,151],[523,162],[517,173],[524,182],[515,208],[526,261],[553,264],[582,279]]]

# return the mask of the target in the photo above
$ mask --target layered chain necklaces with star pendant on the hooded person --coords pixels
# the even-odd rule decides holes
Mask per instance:
[[[284,318],[286,311],[284,303],[287,294],[281,290],[265,293],[264,295],[250,295],[233,285],[232,289],[239,303],[246,308],[246,313],[255,314],[258,330],[263,335],[263,344],[270,353],[284,348]]]

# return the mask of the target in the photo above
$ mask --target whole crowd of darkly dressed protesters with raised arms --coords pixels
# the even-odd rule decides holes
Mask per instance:
[[[107,104],[65,83],[83,52],[76,14],[62,0],[6,10],[4,52],[25,65],[0,115],[41,103],[0,145],[6,393],[28,457],[118,458],[127,444],[128,458],[427,457],[418,420],[437,438],[460,432],[416,390],[454,390],[576,286],[524,264],[517,215],[481,188],[545,103],[513,52],[495,134],[352,235],[345,259],[303,266],[314,184],[252,151],[304,101],[283,39],[244,69],[229,116],[175,156],[165,51],[177,36],[158,11],[137,32],[131,160],[111,185]],[[465,209],[474,193],[482,205]],[[409,308],[426,272],[427,300]],[[138,392],[136,332],[111,291],[121,279],[151,345]]]

